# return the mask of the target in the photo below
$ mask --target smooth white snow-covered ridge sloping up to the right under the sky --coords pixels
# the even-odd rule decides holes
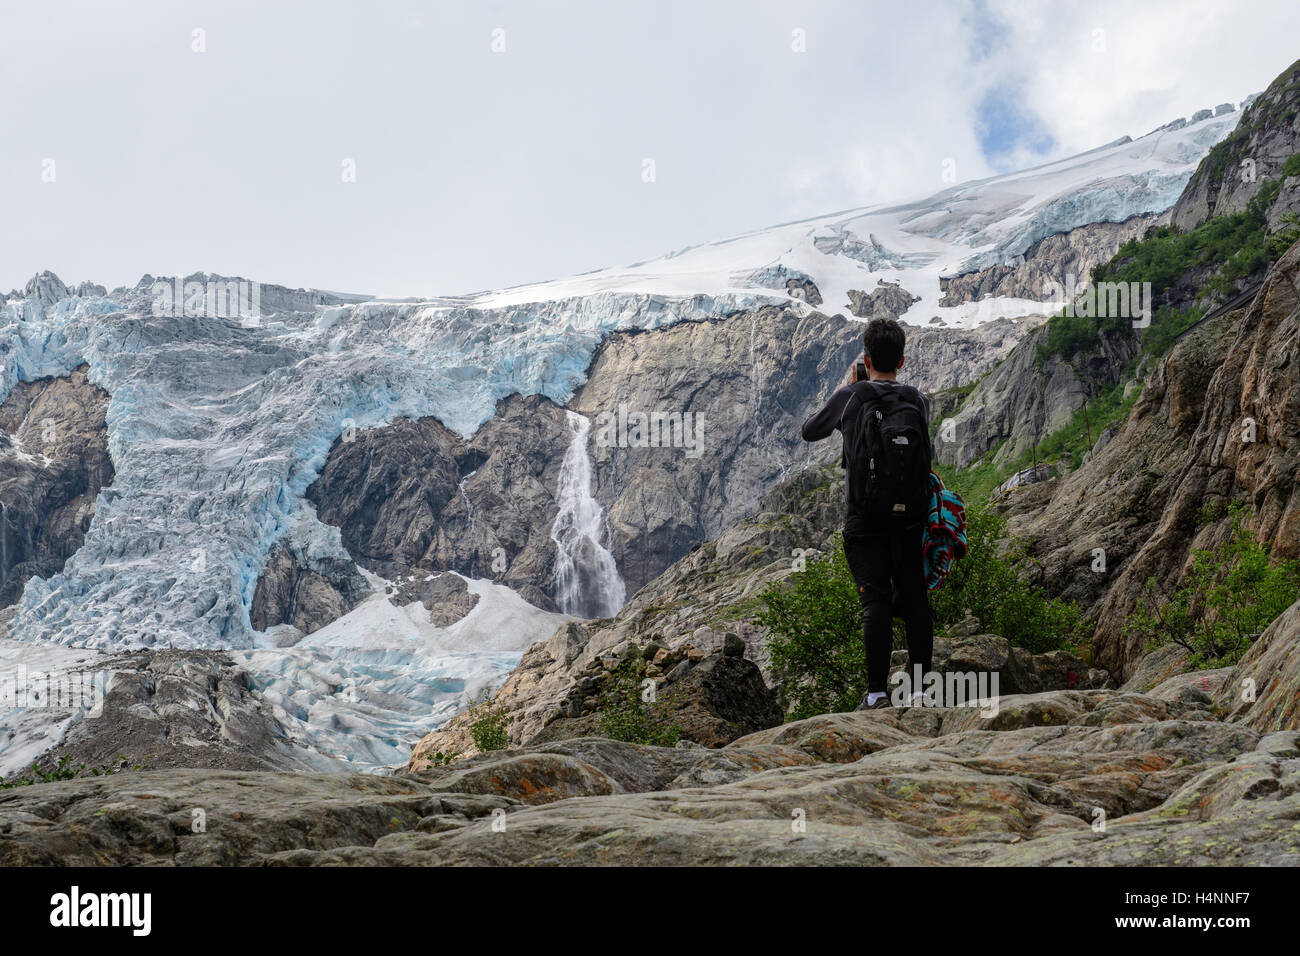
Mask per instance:
[[[1221,108],[1222,109],[1222,108]],[[971,326],[991,312],[978,303],[939,306],[940,277],[1010,263],[1039,239],[1089,222],[1122,222],[1171,207],[1214,143],[1240,113],[1200,111],[1139,139],[1127,137],[1078,156],[966,182],[902,203],[849,209],[671,252],[633,265],[469,297],[480,308],[618,290],[686,295],[785,291],[779,276],[811,277],[824,311],[846,311],[850,289],[879,280],[920,297],[905,319],[942,315]],[[1000,315],[1040,312],[1030,300],[1004,300]]]

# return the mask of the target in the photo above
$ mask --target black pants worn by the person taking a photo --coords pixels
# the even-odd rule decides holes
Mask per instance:
[[[861,532],[846,528],[844,555],[862,602],[862,644],[867,658],[867,691],[887,691],[893,618],[907,627],[907,674],[920,665],[930,671],[935,624],[922,563],[924,527]],[[913,688],[918,691],[919,688]]]

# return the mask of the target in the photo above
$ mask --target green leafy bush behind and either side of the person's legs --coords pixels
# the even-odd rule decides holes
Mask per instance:
[[[930,594],[935,628],[959,622],[966,610],[984,630],[1034,652],[1054,650],[1083,637],[1082,615],[1072,604],[1056,601],[1020,579],[1023,555],[1000,557],[997,541],[1005,522],[967,507],[967,555],[948,580]],[[827,553],[759,594],[758,622],[768,630],[772,670],[781,682],[786,717],[852,710],[867,689],[858,591],[836,536]],[[894,622],[894,646],[906,646]]]

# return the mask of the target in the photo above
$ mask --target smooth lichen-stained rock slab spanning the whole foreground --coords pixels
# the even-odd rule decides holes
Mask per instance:
[[[1283,865],[1297,812],[1295,731],[1063,691],[996,717],[826,714],[720,749],[586,737],[398,777],[20,787],[0,791],[0,864]]]

